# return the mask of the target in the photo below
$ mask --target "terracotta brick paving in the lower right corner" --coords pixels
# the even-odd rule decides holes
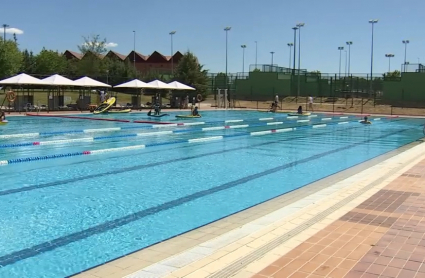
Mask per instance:
[[[255,278],[425,278],[425,160]]]

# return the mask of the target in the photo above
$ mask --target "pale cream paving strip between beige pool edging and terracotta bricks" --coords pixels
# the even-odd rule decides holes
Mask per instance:
[[[418,154],[418,151],[420,154]],[[227,233],[217,236],[204,243],[200,243],[197,246],[189,248],[179,254],[170,256],[164,260],[153,263],[150,266],[144,267],[132,274],[125,276],[125,278],[168,277],[168,275],[173,275],[174,271],[183,269],[186,266],[190,265],[191,263],[194,263],[196,261],[200,261],[203,259],[209,259],[209,256],[213,255],[216,252],[225,251],[226,254],[223,254],[222,256],[226,256],[229,254],[236,255],[235,253],[238,252],[238,250],[233,251],[232,249],[232,251],[229,251],[223,248],[229,246],[230,244],[237,243],[240,240],[244,240],[246,237],[251,235],[255,236],[255,238],[253,238],[251,241],[258,240],[260,236],[269,234],[269,232],[265,233],[265,231],[267,231],[267,229],[270,227],[275,227],[276,231],[274,233],[278,233],[274,235],[274,237],[276,238],[277,236],[285,233],[285,231],[277,230],[281,227],[281,225],[276,225],[276,223],[280,224],[280,223],[283,223],[284,221],[287,221],[287,223],[291,223],[291,221],[295,220],[294,219],[295,217],[297,218],[299,217],[300,213],[303,213],[302,215],[309,214],[309,218],[312,218],[314,217],[314,215],[317,215],[318,213],[322,212],[324,209],[331,207],[331,204],[328,204],[329,198],[334,198],[334,196],[337,196],[338,199],[334,200],[334,202],[339,202],[340,200],[343,200],[343,198],[346,197],[348,193],[351,193],[351,194],[355,193],[355,192],[352,192],[353,185],[355,188],[362,190],[362,188],[365,188],[368,185],[373,184],[374,182],[378,181],[382,177],[387,177],[387,179],[385,180],[385,183],[380,183],[378,186],[376,186],[377,188],[373,188],[369,191],[366,191],[365,193],[361,194],[359,197],[347,203],[348,208],[350,209],[355,208],[357,206],[357,203],[362,202],[364,198],[367,199],[369,196],[372,196],[373,194],[375,194],[375,192],[377,192],[379,189],[385,186],[386,183],[390,183],[397,176],[399,176],[401,173],[403,173],[404,171],[408,169],[407,166],[402,169],[398,168],[400,167],[399,166],[400,161],[403,161],[403,162],[405,161],[405,163],[410,163],[409,167],[411,167],[411,165],[415,165],[416,163],[420,161],[419,158],[422,155],[424,155],[424,153],[423,153],[423,148],[421,146],[413,147],[410,150],[407,150],[401,154],[398,154],[392,158],[389,158],[366,170],[363,170],[344,180],[334,183],[333,185],[330,185],[320,191],[317,191],[316,193],[313,193],[305,198],[295,201],[292,204],[286,205],[280,209],[277,209],[271,213],[268,213],[267,215],[257,218],[256,220],[246,223],[240,227],[237,227]],[[413,156],[416,159],[412,162]],[[396,171],[393,173],[393,175],[391,175],[394,170]],[[380,175],[377,175],[377,173]],[[350,190],[350,192],[348,190]],[[370,192],[370,191],[373,191],[373,192]],[[324,204],[326,204],[326,206],[324,206]],[[309,213],[307,210],[312,208],[317,208],[317,209],[320,208],[320,211],[317,211],[314,213],[314,215],[311,215],[311,212]],[[318,222],[318,223],[321,223],[321,222]],[[266,239],[266,237],[264,237],[264,239]],[[267,240],[268,242],[270,242],[273,239],[268,237]],[[245,245],[247,244],[248,243],[245,243]],[[267,244],[267,241],[263,242],[262,245],[254,249],[258,250],[261,246],[264,246],[265,244]],[[241,244],[241,248],[244,247],[243,245],[244,244]],[[253,252],[255,252],[255,250]],[[240,257],[240,256],[237,256],[237,257]],[[214,261],[218,261],[218,259],[214,259]],[[232,260],[232,262],[234,261],[235,260]],[[208,263],[202,264],[200,267],[196,267],[195,269],[192,269],[191,271],[188,272],[187,275],[191,275],[198,270],[201,271],[203,269],[203,266],[207,264]],[[229,265],[229,262],[227,263],[223,262],[222,265],[223,267],[224,265]],[[216,269],[222,269],[222,267],[216,268]],[[212,274],[213,273],[211,273],[210,275]],[[180,276],[176,275],[176,277],[180,277]]]

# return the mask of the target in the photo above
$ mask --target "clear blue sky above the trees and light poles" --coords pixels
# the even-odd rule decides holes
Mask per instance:
[[[245,72],[257,63],[289,66],[292,27],[301,29],[301,68],[322,73],[339,72],[339,46],[348,50],[352,41],[350,72],[367,74],[371,62],[370,19],[378,19],[374,31],[374,73],[388,71],[388,58],[394,54],[391,70],[400,70],[407,61],[425,62],[424,0],[5,0],[1,24],[8,24],[7,37],[16,33],[20,48],[39,52],[47,49],[78,51],[82,36],[100,35],[109,49],[128,55],[133,50],[149,55],[190,50],[212,73],[224,72],[226,32],[228,32],[228,72]],[[19,12],[17,12],[19,11]],[[14,29],[12,29],[14,28]],[[297,41],[298,44],[298,41]],[[298,49],[297,49],[298,51]],[[298,54],[297,54],[298,56]],[[348,55],[347,55],[348,56]],[[341,71],[346,54],[342,52]],[[347,59],[348,60],[348,59]],[[298,63],[298,62],[297,62]]]

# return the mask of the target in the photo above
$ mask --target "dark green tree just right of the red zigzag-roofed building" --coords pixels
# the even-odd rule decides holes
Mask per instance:
[[[181,58],[175,71],[175,79],[194,87],[203,99],[207,97],[208,70],[199,64],[198,58],[192,52],[187,51]]]

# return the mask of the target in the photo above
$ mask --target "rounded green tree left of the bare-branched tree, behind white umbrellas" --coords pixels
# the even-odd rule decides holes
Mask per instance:
[[[34,72],[37,74],[66,74],[68,61],[59,52],[43,48],[35,57]]]

